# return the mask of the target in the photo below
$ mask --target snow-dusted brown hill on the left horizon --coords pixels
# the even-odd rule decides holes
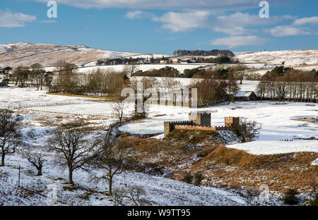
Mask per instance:
[[[163,54],[141,54],[121,51],[110,51],[86,47],[85,45],[54,45],[54,44],[0,44],[0,66],[30,66],[41,63],[42,66],[52,66],[59,60],[68,61],[81,66],[93,63],[98,59],[110,57],[161,57]],[[167,55],[165,55],[167,56]]]

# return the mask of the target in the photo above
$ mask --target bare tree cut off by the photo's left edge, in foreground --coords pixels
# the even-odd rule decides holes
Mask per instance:
[[[0,148],[1,166],[7,154],[14,154],[20,146],[20,116],[15,116],[9,109],[0,109]]]

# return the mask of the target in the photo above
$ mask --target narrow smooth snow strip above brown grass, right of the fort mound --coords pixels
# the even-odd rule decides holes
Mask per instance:
[[[252,141],[227,145],[226,147],[241,149],[249,154],[287,154],[294,152],[317,152],[318,141]]]

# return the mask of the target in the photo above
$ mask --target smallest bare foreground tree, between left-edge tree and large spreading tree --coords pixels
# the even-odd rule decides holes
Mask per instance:
[[[35,168],[37,169],[37,176],[42,176],[42,167],[45,163],[46,152],[45,150],[40,150],[40,152],[33,152],[33,150],[36,150],[33,146],[25,148],[22,156],[25,159],[28,159],[30,164],[35,166]]]

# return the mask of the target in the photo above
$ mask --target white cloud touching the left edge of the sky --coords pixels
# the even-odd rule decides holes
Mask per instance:
[[[0,27],[24,27],[25,23],[37,20],[35,16],[24,13],[12,13],[10,10],[0,11]]]

